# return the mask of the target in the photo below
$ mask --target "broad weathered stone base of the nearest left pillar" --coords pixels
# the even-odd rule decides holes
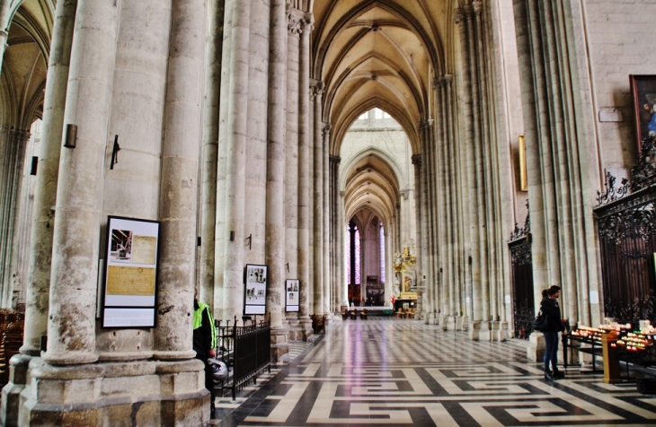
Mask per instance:
[[[107,362],[53,366],[34,358],[20,425],[207,425],[202,362]]]

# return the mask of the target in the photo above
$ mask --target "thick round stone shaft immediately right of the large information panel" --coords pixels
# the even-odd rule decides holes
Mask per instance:
[[[154,356],[190,359],[195,284],[203,0],[173,0],[160,185],[157,327]],[[184,84],[181,84],[184,82]]]

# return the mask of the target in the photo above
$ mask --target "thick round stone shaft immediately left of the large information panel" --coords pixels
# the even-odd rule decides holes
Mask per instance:
[[[75,149],[62,149],[59,161],[48,351],[42,355],[53,365],[98,359],[100,209],[117,19],[118,7],[111,2],[78,2],[64,113],[64,123],[77,126],[77,140]]]

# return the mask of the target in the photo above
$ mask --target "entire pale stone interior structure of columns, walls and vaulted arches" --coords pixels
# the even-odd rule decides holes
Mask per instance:
[[[208,423],[194,286],[239,318],[246,264],[278,364],[356,285],[391,309],[410,241],[414,321],[502,341],[559,284],[597,324],[593,208],[652,112],[629,85],[652,22],[652,0],[0,0],[0,307],[25,317],[0,420]],[[155,327],[97,318],[110,215],[160,223]]]

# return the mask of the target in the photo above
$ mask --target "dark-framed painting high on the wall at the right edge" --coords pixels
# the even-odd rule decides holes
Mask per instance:
[[[634,97],[635,135],[638,149],[643,139],[656,134],[656,75],[630,75]]]

